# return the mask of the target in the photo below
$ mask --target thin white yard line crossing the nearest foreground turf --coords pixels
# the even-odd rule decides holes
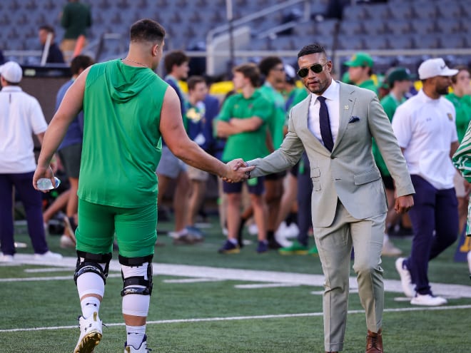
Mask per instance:
[[[385,309],[385,312],[423,312],[430,310],[462,310],[471,309],[471,305],[455,305],[450,307],[404,307],[398,309]],[[349,310],[348,314],[364,314],[364,310]],[[273,314],[273,315],[254,315],[254,316],[233,316],[233,317],[203,317],[195,319],[173,319],[173,320],[156,320],[148,321],[147,324],[181,324],[191,322],[216,322],[216,321],[236,321],[236,320],[254,320],[254,319],[283,319],[290,317],[319,317],[322,312],[305,312],[300,314]],[[106,326],[124,326],[123,322],[106,323]],[[26,327],[23,329],[0,329],[0,333],[4,332],[29,332],[29,331],[50,331],[57,329],[77,329],[74,326],[53,326],[53,327]]]

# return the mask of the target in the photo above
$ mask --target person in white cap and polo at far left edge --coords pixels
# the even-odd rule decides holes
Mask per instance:
[[[33,133],[40,142],[47,123],[39,102],[19,86],[21,66],[8,61],[0,66],[0,262],[11,262],[16,252],[12,215],[13,187],[26,212],[29,237],[37,259],[62,256],[49,251],[44,235],[42,196],[33,188],[36,170]]]

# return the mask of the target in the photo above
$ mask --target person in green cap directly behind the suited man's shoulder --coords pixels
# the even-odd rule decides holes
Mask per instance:
[[[353,85],[369,89],[378,94],[373,74],[373,58],[368,53],[358,52],[349,61],[343,63],[348,66],[348,77]]]

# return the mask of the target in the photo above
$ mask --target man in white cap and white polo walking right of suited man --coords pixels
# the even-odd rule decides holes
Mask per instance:
[[[396,269],[412,305],[435,306],[447,300],[432,294],[428,262],[452,245],[458,233],[451,161],[458,147],[455,107],[442,97],[457,70],[448,68],[442,58],[432,58],[421,63],[418,71],[423,88],[397,107],[393,117],[393,130],[415,188],[409,213],[412,250],[407,259],[396,260]]]

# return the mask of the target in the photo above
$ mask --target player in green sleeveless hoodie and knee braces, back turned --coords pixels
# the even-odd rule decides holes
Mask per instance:
[[[146,319],[157,226],[155,170],[161,158],[161,138],[185,163],[228,182],[246,179],[251,169],[241,159],[221,163],[188,138],[175,90],[154,72],[165,33],[151,19],[133,24],[127,55],[86,68],[66,92],[44,135],[33,177],[36,190],[40,178],[54,180],[51,158],[83,109],[74,275],[82,314],[74,353],[91,353],[101,341],[98,311],[115,234],[123,277],[125,351],[148,352]]]

